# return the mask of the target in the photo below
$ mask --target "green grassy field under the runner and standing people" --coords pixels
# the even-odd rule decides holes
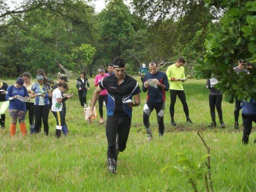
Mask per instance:
[[[5,81],[8,84],[14,81]],[[170,125],[170,93],[167,93],[164,117],[165,135],[158,137],[156,114],[150,123],[154,140],[146,141],[142,123],[142,110],[146,94],[141,94],[140,106],[134,108],[132,128],[127,148],[118,156],[116,175],[106,167],[107,141],[105,126],[98,120],[88,124],[80,107],[75,80],[68,84],[75,97],[66,102],[68,136],[54,138],[55,118],[49,116],[49,136],[42,133],[21,137],[17,126],[16,136],[10,138],[7,114],[6,129],[0,130],[0,191],[192,191],[187,180],[180,176],[160,173],[166,164],[177,165],[176,153],[182,152],[193,160],[206,154],[196,132],[204,130],[204,137],[211,148],[212,178],[215,191],[256,191],[256,148],[252,132],[247,146],[242,145],[242,128],[234,130],[234,104],[223,102],[223,116],[227,127],[208,129],[211,122],[208,90],[205,80],[188,80],[184,83],[190,118],[187,124],[182,104],[177,99],[175,120]],[[90,80],[93,86],[93,80]],[[91,98],[94,88],[88,92]],[[104,109],[106,113],[106,110]],[[218,115],[216,113],[216,118]],[[217,121],[218,125],[219,122]],[[26,118],[28,128],[28,119]],[[240,125],[242,125],[240,117]],[[204,186],[198,183],[199,189]]]

